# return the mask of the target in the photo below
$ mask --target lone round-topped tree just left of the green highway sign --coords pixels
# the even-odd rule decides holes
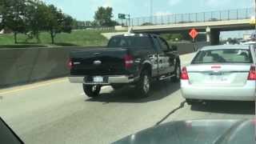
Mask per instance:
[[[113,26],[114,22],[111,18],[113,18],[113,9],[111,7],[98,7],[94,15],[95,22],[99,26]]]

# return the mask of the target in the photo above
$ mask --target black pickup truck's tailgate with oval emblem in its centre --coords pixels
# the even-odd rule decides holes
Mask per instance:
[[[120,75],[126,73],[123,48],[96,48],[70,52],[73,65],[70,75]]]

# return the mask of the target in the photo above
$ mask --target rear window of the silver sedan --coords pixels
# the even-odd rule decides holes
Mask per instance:
[[[252,63],[250,50],[202,50],[199,51],[192,64],[198,63]]]

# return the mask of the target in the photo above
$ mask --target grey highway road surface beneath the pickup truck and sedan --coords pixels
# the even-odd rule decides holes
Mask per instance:
[[[182,65],[193,54],[182,55]],[[135,95],[135,97],[134,97]],[[103,87],[88,98],[67,78],[0,90],[0,116],[26,143],[110,143],[163,122],[254,118],[254,102],[207,102],[188,106],[179,83],[154,82],[149,98],[132,88]],[[0,142],[1,143],[1,142]]]

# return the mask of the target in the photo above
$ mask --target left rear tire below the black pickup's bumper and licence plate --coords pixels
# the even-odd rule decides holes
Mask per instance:
[[[85,84],[83,84],[82,87],[83,87],[85,94],[90,98],[98,97],[98,95],[102,89],[102,86],[85,85]]]

